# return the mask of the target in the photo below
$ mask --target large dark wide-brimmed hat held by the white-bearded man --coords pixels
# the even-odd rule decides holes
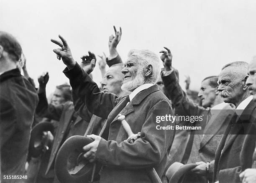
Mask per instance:
[[[60,147],[55,159],[56,177],[61,183],[87,183],[98,175],[101,166],[90,163],[83,155],[83,147],[93,142],[92,138],[80,135],[69,137]],[[95,167],[94,167],[95,166]],[[94,181],[97,178],[94,178]]]

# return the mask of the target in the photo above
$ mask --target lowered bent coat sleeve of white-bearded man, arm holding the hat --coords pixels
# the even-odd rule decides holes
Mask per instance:
[[[158,165],[164,158],[166,151],[172,142],[175,130],[157,130],[157,115],[173,114],[170,103],[160,101],[154,105],[148,112],[145,122],[141,129],[141,138],[135,140],[133,144],[127,141],[116,142],[114,140],[100,140],[96,152],[96,160],[108,166],[119,166],[123,168],[151,168]],[[162,126],[175,123],[161,122]]]

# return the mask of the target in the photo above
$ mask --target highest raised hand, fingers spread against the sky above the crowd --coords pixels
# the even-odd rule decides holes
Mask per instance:
[[[108,41],[108,48],[109,48],[109,53],[110,53],[109,57],[110,58],[115,58],[118,55],[116,47],[117,47],[119,41],[121,40],[121,36],[122,36],[122,28],[120,28],[120,31],[117,31],[114,26],[114,30],[115,30],[115,36],[113,36],[113,35],[109,36],[109,41]]]

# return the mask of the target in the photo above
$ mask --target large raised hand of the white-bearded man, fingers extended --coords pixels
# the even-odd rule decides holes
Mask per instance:
[[[76,62],[74,61],[74,58],[72,56],[71,50],[67,44],[67,41],[59,35],[59,38],[61,41],[51,39],[51,42],[59,45],[61,48],[56,48],[53,50],[54,53],[56,53],[57,58],[60,60],[62,59],[63,63],[67,65],[68,69],[72,69]]]

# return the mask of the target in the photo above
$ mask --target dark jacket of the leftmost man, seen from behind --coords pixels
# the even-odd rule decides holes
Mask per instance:
[[[3,175],[24,175],[36,90],[18,69],[0,75],[1,182],[19,182]]]

